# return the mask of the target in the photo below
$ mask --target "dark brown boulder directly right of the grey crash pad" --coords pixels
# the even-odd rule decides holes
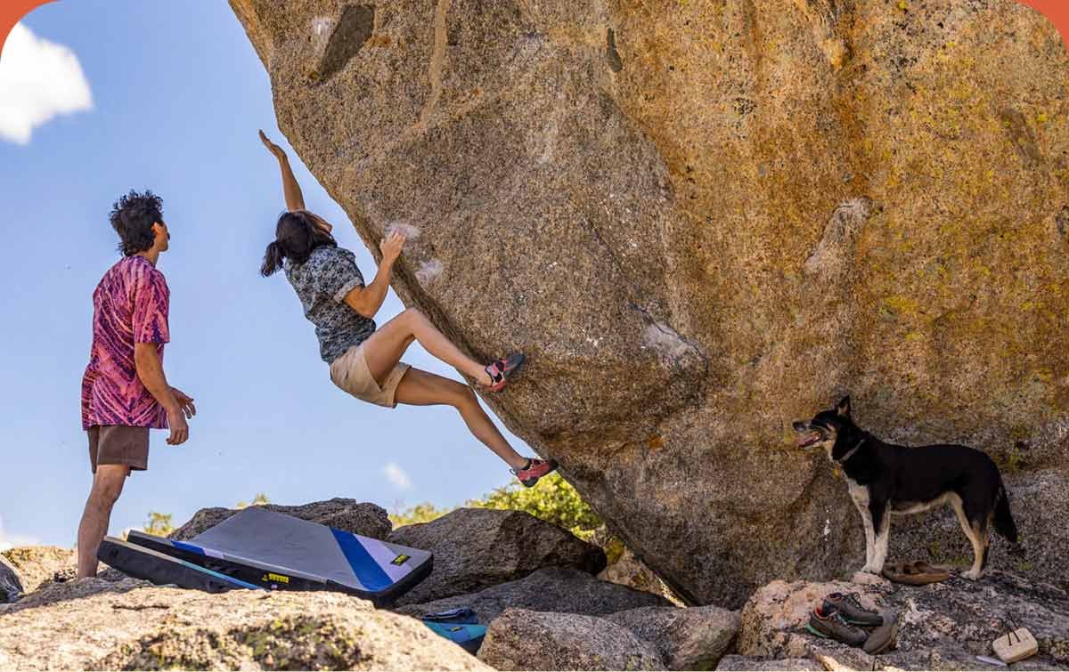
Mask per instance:
[[[390,533],[394,544],[434,552],[434,572],[398,605],[475,593],[543,567],[598,574],[605,553],[571,532],[522,511],[458,509]]]

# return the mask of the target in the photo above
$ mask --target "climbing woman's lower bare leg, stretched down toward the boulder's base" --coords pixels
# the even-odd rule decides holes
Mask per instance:
[[[509,442],[498,432],[497,426],[486,416],[482,406],[479,405],[475,391],[468,386],[427,371],[408,369],[398,385],[394,398],[399,404],[412,406],[448,404],[460,411],[461,418],[464,419],[471,434],[508,463],[510,467],[522,469],[527,465],[527,458],[512,450]]]

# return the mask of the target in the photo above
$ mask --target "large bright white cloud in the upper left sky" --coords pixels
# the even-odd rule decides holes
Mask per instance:
[[[93,95],[74,51],[15,24],[0,53],[0,139],[30,142],[57,114],[93,109]]]

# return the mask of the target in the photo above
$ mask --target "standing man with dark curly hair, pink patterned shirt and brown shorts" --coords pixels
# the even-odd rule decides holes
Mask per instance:
[[[130,191],[111,208],[123,259],[93,292],[93,345],[81,382],[81,424],[89,434],[93,487],[78,526],[78,577],[96,576],[96,549],[130,470],[149,468],[149,429],[170,428],[167,442],[189,438],[193,400],[167,385],[170,290],[156,269],[171,235],[164,202]]]

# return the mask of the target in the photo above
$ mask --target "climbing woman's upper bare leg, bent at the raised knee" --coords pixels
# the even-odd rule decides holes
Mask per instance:
[[[482,364],[464,355],[444,333],[434,328],[423,313],[414,308],[387,322],[363,342],[363,358],[375,380],[382,382],[386,379],[413,340],[419,341],[431,355],[480,384],[492,382]]]

